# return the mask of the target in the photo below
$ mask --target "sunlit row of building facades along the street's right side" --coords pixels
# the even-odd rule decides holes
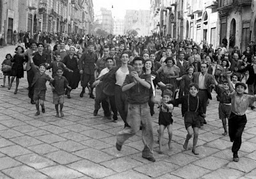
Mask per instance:
[[[151,0],[150,31],[176,40],[206,41],[214,48],[227,38],[241,51],[256,38],[252,0]],[[227,48],[228,49],[228,48]]]

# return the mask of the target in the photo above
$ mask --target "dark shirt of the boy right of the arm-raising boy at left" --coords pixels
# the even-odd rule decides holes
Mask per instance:
[[[68,81],[65,77],[54,77],[54,81],[51,82],[52,86],[54,86],[53,93],[56,93],[57,95],[64,95],[65,88],[68,86]]]

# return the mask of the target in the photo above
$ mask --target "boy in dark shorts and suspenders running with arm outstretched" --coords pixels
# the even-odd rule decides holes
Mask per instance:
[[[192,152],[195,155],[199,155],[196,152],[196,144],[198,141],[198,130],[200,128],[200,116],[204,117],[202,100],[198,97],[199,87],[195,83],[189,84],[189,95],[184,95],[176,100],[171,101],[173,105],[181,104],[181,113],[184,116],[185,127],[188,131],[186,141],[183,148],[188,148],[189,139],[194,134]]]

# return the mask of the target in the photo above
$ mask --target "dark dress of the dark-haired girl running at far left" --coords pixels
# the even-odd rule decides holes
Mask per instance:
[[[24,77],[24,70],[23,70],[24,61],[27,61],[27,60],[23,56],[19,56],[17,54],[13,56],[13,59],[12,59],[13,65],[12,65],[12,73],[11,73],[13,77],[17,77],[17,78]]]

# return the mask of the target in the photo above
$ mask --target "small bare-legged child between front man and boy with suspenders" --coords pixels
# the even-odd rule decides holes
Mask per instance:
[[[172,91],[170,89],[165,89],[163,92],[163,98],[160,101],[154,101],[156,104],[158,104],[159,107],[159,153],[163,153],[162,150],[162,143],[163,143],[163,134],[164,129],[167,127],[168,134],[169,134],[169,150],[171,149],[171,142],[172,142],[172,110],[173,105],[168,104],[172,100]]]

